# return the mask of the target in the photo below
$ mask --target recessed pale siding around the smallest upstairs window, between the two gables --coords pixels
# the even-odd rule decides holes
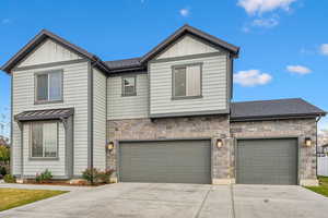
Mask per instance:
[[[137,96],[121,96],[121,76],[107,80],[107,119],[148,117],[148,74],[137,74]]]

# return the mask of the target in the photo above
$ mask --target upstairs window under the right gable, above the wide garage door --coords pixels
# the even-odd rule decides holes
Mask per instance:
[[[201,64],[173,66],[173,98],[201,96]]]

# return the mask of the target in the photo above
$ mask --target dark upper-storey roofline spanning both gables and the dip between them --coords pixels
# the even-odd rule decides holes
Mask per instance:
[[[118,72],[127,72],[127,71],[140,71],[147,69],[147,62],[156,56],[159,52],[163,51],[167,48],[171,44],[173,44],[176,39],[180,38],[181,36],[190,34],[196,37],[201,38],[202,40],[209,43],[210,45],[219,48],[223,48],[231,52],[234,57],[238,56],[239,48],[233,46],[220,38],[216,38],[212,35],[209,35],[200,29],[191,27],[189,25],[184,25],[179,29],[177,29],[173,35],[166,38],[163,43],[157,45],[151,51],[145,53],[143,57],[140,58],[131,58],[131,59],[124,59],[124,60],[116,60],[116,61],[102,61],[95,55],[84,50],[83,48],[75,46],[66,39],[55,35],[54,33],[43,29],[38,35],[36,35],[26,46],[24,46],[15,56],[13,56],[4,65],[1,66],[1,70],[10,73],[10,71],[25,57],[27,56],[37,45],[39,45],[44,39],[50,38],[56,43],[69,48],[70,50],[74,51],[75,53],[90,59],[95,66],[104,70],[107,73],[118,73]]]

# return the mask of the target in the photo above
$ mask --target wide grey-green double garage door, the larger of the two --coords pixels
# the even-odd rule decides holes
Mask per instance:
[[[122,182],[210,183],[210,141],[129,142],[119,144]]]

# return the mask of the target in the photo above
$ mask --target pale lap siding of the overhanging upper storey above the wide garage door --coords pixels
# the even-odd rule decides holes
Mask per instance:
[[[172,65],[198,62],[203,63],[202,98],[172,100]],[[225,55],[151,63],[151,114],[227,109],[226,70]]]

